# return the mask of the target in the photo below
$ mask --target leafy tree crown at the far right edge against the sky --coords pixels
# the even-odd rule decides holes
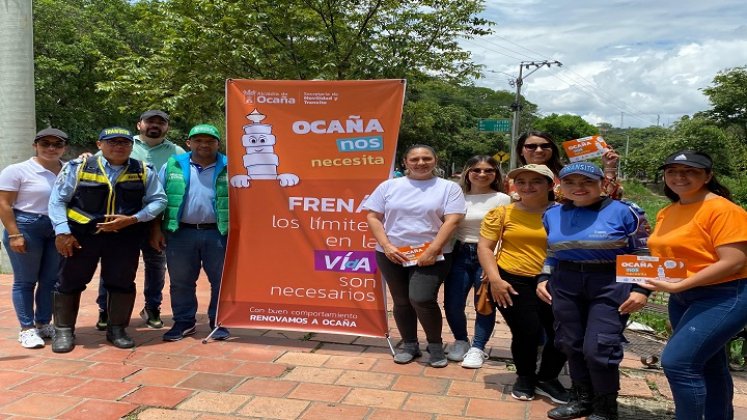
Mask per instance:
[[[747,66],[719,72],[703,93],[713,106],[705,114],[724,125],[734,125],[747,143]]]

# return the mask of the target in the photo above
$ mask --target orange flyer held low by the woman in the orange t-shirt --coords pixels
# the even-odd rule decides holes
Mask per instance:
[[[687,264],[682,258],[618,255],[616,276],[618,283],[643,283],[646,280],[676,283],[687,278]]]

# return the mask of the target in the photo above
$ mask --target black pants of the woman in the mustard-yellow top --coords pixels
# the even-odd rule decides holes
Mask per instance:
[[[511,355],[516,364],[516,374],[541,381],[557,378],[565,365],[566,357],[554,344],[555,317],[552,308],[537,297],[537,281],[534,277],[517,276],[500,267],[499,271],[501,278],[518,293],[511,295],[514,303],[512,306],[498,307],[511,330]],[[543,332],[547,340],[537,372],[537,348],[541,344]]]

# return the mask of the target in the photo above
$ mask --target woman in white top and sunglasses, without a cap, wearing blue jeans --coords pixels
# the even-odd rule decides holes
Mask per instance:
[[[498,162],[490,156],[467,160],[459,184],[467,201],[467,214],[457,228],[454,260],[444,284],[444,312],[455,340],[447,358],[455,362],[461,362],[470,349],[464,310],[470,290],[476,292],[482,283],[482,268],[477,259],[480,223],[488,211],[511,203],[511,198],[501,191],[503,181]],[[475,315],[476,331],[492,331],[493,324],[495,311],[490,315]]]

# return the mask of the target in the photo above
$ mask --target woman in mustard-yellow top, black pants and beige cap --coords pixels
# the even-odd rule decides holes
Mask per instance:
[[[511,396],[527,401],[534,399],[536,392],[553,402],[566,403],[568,392],[558,381],[566,358],[553,345],[555,319],[550,305],[536,295],[536,276],[547,253],[542,214],[554,205],[554,174],[545,165],[529,164],[509,172],[508,178],[513,180],[521,200],[485,216],[477,255],[490,282],[493,302],[511,329],[511,354],[517,374]],[[537,347],[543,330],[547,340],[537,371]],[[476,331],[473,346],[484,341]]]

